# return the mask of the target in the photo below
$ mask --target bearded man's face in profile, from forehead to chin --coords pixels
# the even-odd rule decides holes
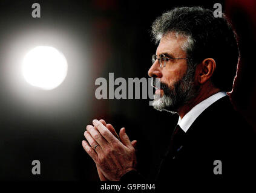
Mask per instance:
[[[184,37],[176,37],[172,33],[166,34],[157,47],[157,57],[164,54],[171,58],[186,58],[186,52],[182,49],[185,42]],[[156,90],[161,97],[153,102],[157,110],[177,112],[177,109],[194,96],[194,73],[188,69],[186,59],[168,60],[164,68],[160,68],[159,60],[156,60],[149,69],[148,75],[161,80],[161,87]]]

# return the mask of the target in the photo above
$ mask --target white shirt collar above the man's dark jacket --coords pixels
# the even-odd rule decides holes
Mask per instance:
[[[192,125],[192,123],[197,119],[197,117],[209,106],[211,106],[212,103],[219,100],[223,96],[226,96],[226,92],[218,92],[214,95],[211,95],[209,98],[206,98],[206,100],[201,101],[199,104],[194,106],[191,110],[189,110],[188,113],[186,113],[183,118],[179,118],[178,125],[180,125],[180,128],[182,128],[183,131],[188,131],[189,127]]]

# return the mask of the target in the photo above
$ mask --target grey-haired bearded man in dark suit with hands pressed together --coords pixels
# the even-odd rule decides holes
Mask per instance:
[[[161,96],[153,106],[179,114],[157,180],[239,178],[253,172],[254,132],[226,94],[239,58],[226,16],[215,18],[201,7],[174,8],[154,21],[152,32],[159,45],[148,74],[161,80],[160,87],[153,85]],[[82,145],[100,180],[142,180],[136,171],[136,141],[130,141],[125,128],[119,136],[111,124],[93,120]]]

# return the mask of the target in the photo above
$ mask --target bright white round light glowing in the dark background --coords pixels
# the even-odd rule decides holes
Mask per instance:
[[[22,74],[27,83],[44,90],[59,86],[67,76],[68,63],[64,55],[50,46],[37,46],[24,57]]]

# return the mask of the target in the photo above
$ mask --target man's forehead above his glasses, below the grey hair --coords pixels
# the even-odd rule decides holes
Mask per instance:
[[[173,57],[185,57],[186,52],[182,49],[185,41],[185,37],[175,36],[174,33],[168,33],[161,38],[156,54],[169,53]]]

